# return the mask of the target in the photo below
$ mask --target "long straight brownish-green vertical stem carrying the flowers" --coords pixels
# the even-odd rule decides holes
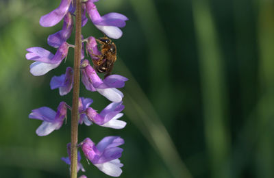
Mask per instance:
[[[73,73],[73,108],[71,111],[71,178],[77,178],[78,105],[82,49],[82,0],[76,0],[76,31]]]

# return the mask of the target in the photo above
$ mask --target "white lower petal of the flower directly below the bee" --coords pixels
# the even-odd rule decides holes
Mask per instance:
[[[116,88],[105,88],[105,89],[97,88],[96,90],[105,98],[115,103],[121,102],[124,97],[123,93],[117,90]]]

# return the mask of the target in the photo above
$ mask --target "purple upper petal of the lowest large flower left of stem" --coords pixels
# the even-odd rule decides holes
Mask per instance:
[[[29,114],[29,118],[51,122],[54,119],[55,114],[56,112],[49,107],[40,107],[36,110],[32,110],[32,113]]]

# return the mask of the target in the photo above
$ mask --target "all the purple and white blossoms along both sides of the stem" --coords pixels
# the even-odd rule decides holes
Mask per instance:
[[[82,1],[82,27],[86,25],[88,17],[92,23],[99,30],[108,36],[109,38],[118,39],[121,38],[123,32],[121,27],[125,27],[125,21],[127,17],[123,14],[111,12],[101,16],[97,10],[95,2],[99,0],[83,0]],[[72,34],[73,30],[73,16],[75,16],[75,1],[62,0],[59,7],[49,12],[45,16],[40,18],[40,25],[42,27],[52,27],[60,23],[63,20],[62,29],[55,34],[49,35],[47,42],[51,47],[57,49],[55,54],[43,49],[41,47],[31,47],[27,49],[27,60],[34,61],[30,65],[30,73],[34,76],[45,75],[54,68],[60,66],[62,61],[66,59],[69,48],[74,48],[73,44],[66,42]],[[79,125],[83,123],[87,126],[96,124],[102,127],[110,127],[113,129],[123,129],[126,125],[125,121],[119,120],[123,113],[123,93],[117,88],[123,88],[125,86],[126,77],[121,75],[108,75],[104,79],[101,79],[97,75],[97,71],[94,66],[85,59],[84,55],[84,42],[86,42],[86,52],[90,55],[92,62],[98,60],[101,56],[101,51],[97,46],[97,39],[90,36],[86,39],[82,36],[83,48],[82,48],[82,61],[81,61],[81,73],[82,83],[86,87],[86,90],[91,92],[99,92],[106,99],[110,101],[101,112],[97,112],[95,107],[90,107],[93,103],[92,99],[80,97],[79,98]],[[54,76],[50,81],[51,90],[59,89],[61,96],[69,94],[73,88],[73,68],[67,67],[66,73],[60,76]],[[29,114],[29,118],[42,120],[42,124],[36,129],[38,136],[47,136],[51,132],[60,129],[67,116],[67,110],[71,110],[71,106],[62,101],[54,111],[49,107],[39,107],[36,110],[32,110]],[[83,142],[78,144],[78,147],[82,148],[84,155],[90,162],[95,165],[103,173],[112,177],[119,177],[122,173],[119,157],[123,149],[119,148],[124,140],[119,136],[107,136],[103,138],[98,144],[92,142],[90,138],[84,139]],[[71,143],[67,144],[67,153],[69,157],[62,157],[62,160],[66,164],[71,164]],[[78,152],[78,164],[77,171],[85,171],[84,167],[80,163],[81,155]],[[86,177],[85,175],[81,176]]]

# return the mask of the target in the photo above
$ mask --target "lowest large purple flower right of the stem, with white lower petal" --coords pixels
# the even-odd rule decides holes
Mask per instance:
[[[97,166],[106,175],[119,177],[122,173],[119,157],[121,157],[123,149],[118,146],[123,144],[123,138],[119,136],[108,136],[103,138],[96,146],[95,143],[86,138],[81,145],[82,150],[88,160]]]

